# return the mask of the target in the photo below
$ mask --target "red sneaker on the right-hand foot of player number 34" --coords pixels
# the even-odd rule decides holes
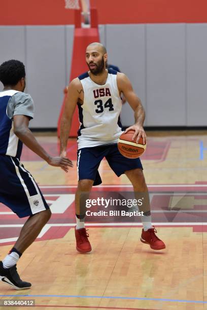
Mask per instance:
[[[165,249],[164,242],[155,235],[155,232],[157,232],[157,230],[155,229],[155,226],[153,226],[153,228],[150,228],[146,231],[143,229],[142,236],[140,238],[141,242],[149,244],[151,249],[153,250]]]

